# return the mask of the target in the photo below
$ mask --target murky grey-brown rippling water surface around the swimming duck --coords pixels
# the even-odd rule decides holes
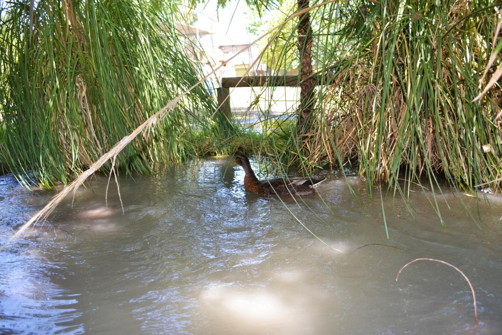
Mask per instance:
[[[106,177],[81,187],[0,253],[0,333],[501,333],[500,203],[479,219],[475,199],[445,190],[443,228],[430,194],[412,192],[411,210],[390,196],[388,241],[382,200],[355,177],[356,198],[332,173],[322,198],[282,202],[246,193],[229,163],[121,178],[123,208]],[[55,194],[9,176],[0,188],[2,243]],[[450,267],[416,262],[396,282],[422,257],[469,277],[478,325]]]

